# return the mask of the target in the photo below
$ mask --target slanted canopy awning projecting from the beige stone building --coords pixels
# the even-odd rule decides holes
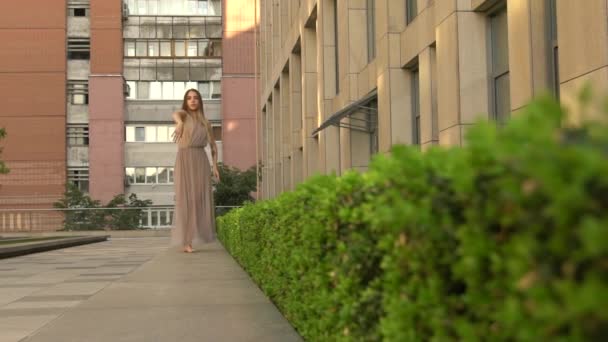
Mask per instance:
[[[354,130],[371,133],[371,131],[373,129],[375,129],[374,125],[377,122],[378,109],[374,108],[374,107],[370,107],[369,104],[370,104],[370,102],[375,100],[377,97],[378,97],[377,89],[370,91],[367,95],[363,96],[361,99],[359,99],[359,100],[349,104],[348,106],[340,109],[339,111],[335,112],[332,116],[330,116],[327,120],[325,120],[325,122],[323,122],[321,124],[321,126],[319,126],[317,129],[315,129],[312,132],[312,136],[313,137],[316,136],[317,134],[319,134],[320,131],[324,130],[325,128],[327,128],[329,126],[338,126],[338,127],[344,127],[344,128],[348,128],[348,129],[354,129]],[[351,123],[351,124],[341,123],[342,119],[344,119],[345,117],[351,116],[362,110],[367,111],[369,114],[371,114],[371,115],[368,115],[368,117],[370,117],[369,119],[351,117],[351,120],[356,121],[356,123]],[[373,120],[372,117],[376,117],[376,120]],[[357,124],[357,123],[359,123],[359,124]]]

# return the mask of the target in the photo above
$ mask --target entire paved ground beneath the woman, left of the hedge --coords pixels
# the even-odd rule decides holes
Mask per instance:
[[[0,342],[301,341],[220,244],[166,238],[0,260]]]

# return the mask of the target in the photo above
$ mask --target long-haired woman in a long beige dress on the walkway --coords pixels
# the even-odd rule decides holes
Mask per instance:
[[[181,245],[192,253],[192,245],[215,239],[215,213],[211,188],[211,165],[205,153],[211,146],[213,175],[219,181],[217,145],[211,124],[203,113],[201,94],[196,89],[186,91],[182,110],[173,113],[178,144],[175,160],[175,214],[172,244]]]

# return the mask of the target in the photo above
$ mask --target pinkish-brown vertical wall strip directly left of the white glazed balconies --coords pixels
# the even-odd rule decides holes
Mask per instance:
[[[124,192],[122,1],[91,0],[89,177],[91,197]]]

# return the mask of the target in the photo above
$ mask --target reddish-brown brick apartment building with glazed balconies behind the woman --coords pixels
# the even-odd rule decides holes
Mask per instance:
[[[2,1],[8,137],[0,144],[11,172],[0,175],[0,232],[60,228],[23,210],[52,207],[67,183],[102,203],[123,193],[150,199],[143,225],[170,226],[171,113],[190,88],[203,96],[220,161],[254,166],[257,16],[249,3]],[[226,106],[226,96],[235,103]]]

